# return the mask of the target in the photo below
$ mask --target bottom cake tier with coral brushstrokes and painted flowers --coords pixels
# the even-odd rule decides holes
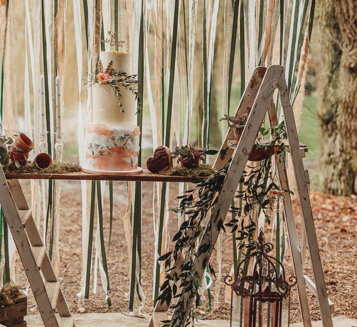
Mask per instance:
[[[89,124],[84,168],[118,172],[136,170],[139,137],[138,126]]]

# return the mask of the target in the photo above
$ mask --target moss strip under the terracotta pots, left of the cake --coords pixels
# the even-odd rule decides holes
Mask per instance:
[[[14,164],[2,167],[5,174],[66,174],[78,173],[82,167],[71,162],[52,162],[52,165],[46,169],[39,169],[33,162],[27,161],[26,165],[17,168]]]

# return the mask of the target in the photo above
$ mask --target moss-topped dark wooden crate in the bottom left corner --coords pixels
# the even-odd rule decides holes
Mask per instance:
[[[24,294],[14,299],[14,303],[0,307],[0,325],[25,327],[24,316],[27,314],[27,297]]]

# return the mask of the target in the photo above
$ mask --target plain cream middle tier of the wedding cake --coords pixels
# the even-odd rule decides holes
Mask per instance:
[[[92,122],[98,124],[112,125],[135,125],[136,102],[135,96],[130,90],[121,87],[121,103],[124,106],[123,112],[120,112],[119,97],[115,94],[110,85],[93,85],[93,116]]]

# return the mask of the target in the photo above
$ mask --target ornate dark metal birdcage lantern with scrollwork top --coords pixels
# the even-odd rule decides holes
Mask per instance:
[[[240,299],[240,326],[244,327],[281,327],[289,326],[289,298],[290,289],[296,284],[296,277],[285,277],[283,264],[268,253],[273,250],[271,243],[265,243],[265,237],[260,229],[256,254],[246,256],[238,265],[237,274],[233,278],[224,279],[226,285],[231,286],[231,327],[233,314],[233,293]],[[247,275],[249,263],[254,261],[253,272]],[[244,305],[244,308],[242,308]],[[283,319],[283,305],[284,310]],[[242,324],[242,320],[244,324]],[[283,324],[284,320],[284,324]],[[239,326],[238,325],[238,326]]]

